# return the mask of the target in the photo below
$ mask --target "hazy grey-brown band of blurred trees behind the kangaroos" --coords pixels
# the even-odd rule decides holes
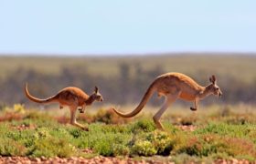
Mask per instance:
[[[139,64],[126,63],[119,65],[119,74],[115,77],[93,75],[86,68],[81,67],[62,67],[59,75],[49,75],[38,73],[35,70],[19,68],[4,79],[0,79],[0,104],[26,103],[27,98],[24,96],[26,82],[28,82],[31,93],[42,98],[55,95],[63,87],[80,87],[87,93],[91,93],[94,86],[98,86],[105,102],[120,105],[137,104],[155,77],[165,72],[161,67],[144,70]],[[206,73],[195,73],[192,77],[203,85],[208,82],[208,77],[205,75]],[[256,79],[250,84],[229,77],[229,75],[218,77],[218,79],[224,94],[218,102],[256,103]],[[207,98],[204,103],[213,102],[216,103],[216,99]],[[153,97],[151,103],[153,105],[160,104],[160,100]]]

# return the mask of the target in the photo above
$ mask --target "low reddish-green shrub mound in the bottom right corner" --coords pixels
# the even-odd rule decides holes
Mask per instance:
[[[198,157],[209,157],[216,154],[226,154],[231,157],[245,155],[256,157],[255,145],[251,141],[213,134],[186,137],[177,143],[174,152]]]

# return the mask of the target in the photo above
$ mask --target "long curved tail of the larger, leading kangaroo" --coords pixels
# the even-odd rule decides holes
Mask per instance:
[[[137,115],[145,106],[145,104],[147,103],[147,101],[149,100],[150,97],[152,97],[153,93],[155,92],[155,82],[152,83],[150,85],[150,87],[148,87],[148,89],[146,90],[143,99],[141,100],[140,104],[138,105],[137,108],[135,108],[131,113],[121,113],[119,111],[117,111],[115,108],[112,108],[112,110],[119,116],[123,117],[123,118],[132,118],[135,115]]]

